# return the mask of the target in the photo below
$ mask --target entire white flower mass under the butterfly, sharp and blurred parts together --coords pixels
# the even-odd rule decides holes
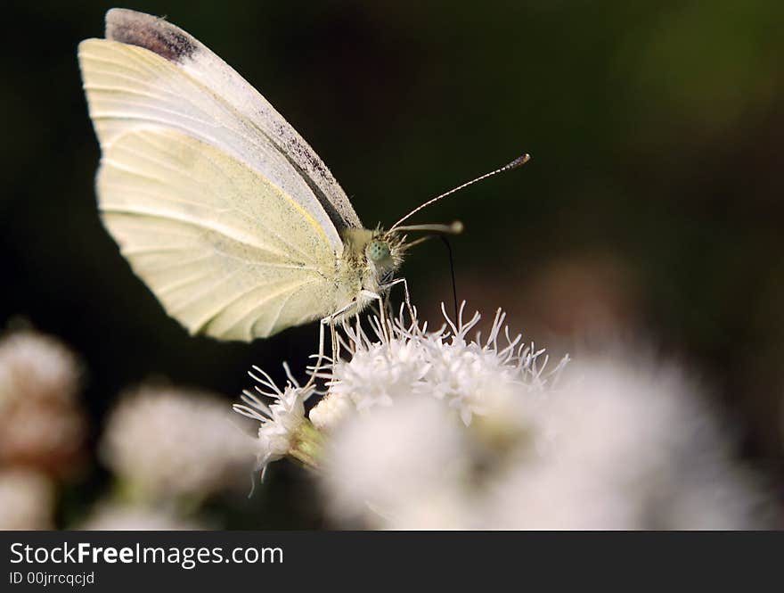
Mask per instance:
[[[443,311],[443,307],[442,307]],[[336,356],[300,386],[260,383],[235,407],[261,425],[259,463],[314,469],[340,527],[741,528],[769,499],[731,458],[698,386],[628,354],[547,355],[498,311],[483,340],[464,307],[445,324],[401,315],[344,324]],[[321,360],[321,358],[320,358]],[[305,401],[324,381],[322,399]],[[272,398],[267,406],[263,399]]]

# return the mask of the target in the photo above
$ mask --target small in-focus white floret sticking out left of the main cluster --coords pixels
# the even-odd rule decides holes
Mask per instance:
[[[256,391],[265,398],[274,399],[273,404],[267,406],[254,393],[244,391],[241,399],[245,403],[233,406],[235,412],[260,423],[257,462],[262,478],[267,465],[289,454],[306,464],[317,463],[313,449],[318,447],[320,437],[305,418],[305,401],[313,394],[314,387],[300,387],[289,367],[283,367],[290,381],[283,391],[260,368],[253,367],[257,374],[249,373],[261,385],[256,386]]]

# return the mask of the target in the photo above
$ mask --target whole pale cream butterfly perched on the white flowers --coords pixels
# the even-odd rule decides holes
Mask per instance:
[[[414,227],[365,229],[313,149],[206,46],[113,9],[78,56],[103,223],[192,334],[249,341],[335,320],[391,284]]]

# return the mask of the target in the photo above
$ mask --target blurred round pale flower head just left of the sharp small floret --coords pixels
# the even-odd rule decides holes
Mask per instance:
[[[200,497],[249,468],[255,444],[231,422],[222,399],[142,387],[113,410],[101,454],[133,497]]]

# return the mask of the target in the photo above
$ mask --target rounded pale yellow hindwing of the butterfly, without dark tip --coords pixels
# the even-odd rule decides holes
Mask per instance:
[[[322,226],[226,152],[139,128],[107,147],[97,186],[120,251],[192,333],[251,340],[331,312]]]

